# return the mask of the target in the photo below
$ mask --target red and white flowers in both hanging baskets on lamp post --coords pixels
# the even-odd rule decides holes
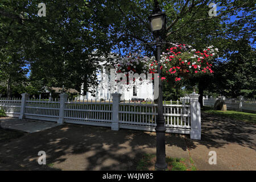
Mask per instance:
[[[162,69],[162,81],[173,77],[175,81],[195,75],[213,73],[212,61],[217,56],[218,49],[209,46],[202,52],[196,51],[186,44],[172,44],[172,47],[163,52],[159,63]],[[137,53],[129,54],[115,64],[116,73],[158,73],[158,64],[155,57],[141,56]],[[168,77],[168,78],[167,78]],[[154,77],[152,77],[154,79]],[[133,80],[134,81],[134,80]]]

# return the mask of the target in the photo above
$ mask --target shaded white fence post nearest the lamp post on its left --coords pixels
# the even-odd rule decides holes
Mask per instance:
[[[119,102],[120,102],[121,94],[112,93],[112,101],[113,101],[113,115],[112,115],[112,126],[111,129],[118,131],[119,130]]]

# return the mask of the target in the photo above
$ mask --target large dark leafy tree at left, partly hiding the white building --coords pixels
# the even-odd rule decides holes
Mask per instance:
[[[0,3],[0,36],[6,40],[1,48],[11,46],[10,40],[22,45],[32,79],[45,86],[80,90],[82,83],[85,89],[96,85],[95,57],[108,55],[111,48],[105,8],[90,1],[48,1],[46,16],[39,17],[39,3]]]

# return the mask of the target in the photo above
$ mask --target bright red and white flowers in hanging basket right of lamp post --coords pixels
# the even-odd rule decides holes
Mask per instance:
[[[203,52],[192,49],[185,44],[174,44],[161,55],[162,81],[168,81],[167,77],[174,77],[175,81],[195,75],[213,73],[212,60],[217,56],[218,49],[209,46]],[[150,73],[156,73],[158,63],[152,61]]]

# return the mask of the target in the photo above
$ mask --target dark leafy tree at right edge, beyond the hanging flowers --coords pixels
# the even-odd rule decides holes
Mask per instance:
[[[218,63],[212,87],[217,93],[236,98],[240,95],[255,96],[255,49],[251,48],[249,39],[243,36],[233,42],[228,59]]]

